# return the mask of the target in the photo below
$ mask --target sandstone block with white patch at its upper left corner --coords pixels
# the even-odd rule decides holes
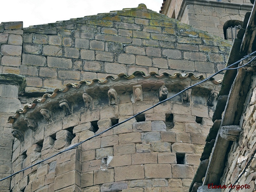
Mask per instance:
[[[108,167],[121,167],[132,164],[131,155],[122,155],[122,156],[108,156],[107,166]]]

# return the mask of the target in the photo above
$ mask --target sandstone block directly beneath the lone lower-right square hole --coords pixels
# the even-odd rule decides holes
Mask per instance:
[[[194,169],[191,165],[172,164],[172,178],[193,179]]]

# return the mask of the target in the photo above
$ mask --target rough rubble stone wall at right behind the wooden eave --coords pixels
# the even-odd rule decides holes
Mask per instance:
[[[226,166],[223,176],[221,178],[221,185],[230,186],[234,184],[238,176],[244,170],[247,162],[252,157],[253,152],[256,149],[256,139],[254,137],[256,133],[255,129],[255,94],[256,94],[256,83],[255,75],[252,76],[251,89],[247,95],[244,114],[241,117],[240,127],[243,129],[238,141],[234,141],[231,146],[230,153],[228,154],[228,165]],[[239,179],[239,185],[250,185],[248,191],[254,191],[256,188],[256,158],[253,157],[249,164],[246,172]],[[236,184],[238,185],[238,184]],[[225,189],[228,191],[230,188]],[[241,189],[240,189],[241,190]]]

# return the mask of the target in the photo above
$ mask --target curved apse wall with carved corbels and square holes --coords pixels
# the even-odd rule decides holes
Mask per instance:
[[[160,95],[170,97],[200,81],[195,76],[167,74],[124,77],[65,87],[12,117],[14,136],[19,139],[14,142],[13,172],[153,106]],[[11,180],[11,191],[188,191],[212,125],[216,99],[212,93],[219,90],[214,80],[197,85],[17,174]]]

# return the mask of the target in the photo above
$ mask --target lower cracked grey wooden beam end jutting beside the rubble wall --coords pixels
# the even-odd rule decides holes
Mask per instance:
[[[239,125],[226,125],[220,127],[220,137],[229,140],[236,141],[239,139],[240,133],[243,131]]]

